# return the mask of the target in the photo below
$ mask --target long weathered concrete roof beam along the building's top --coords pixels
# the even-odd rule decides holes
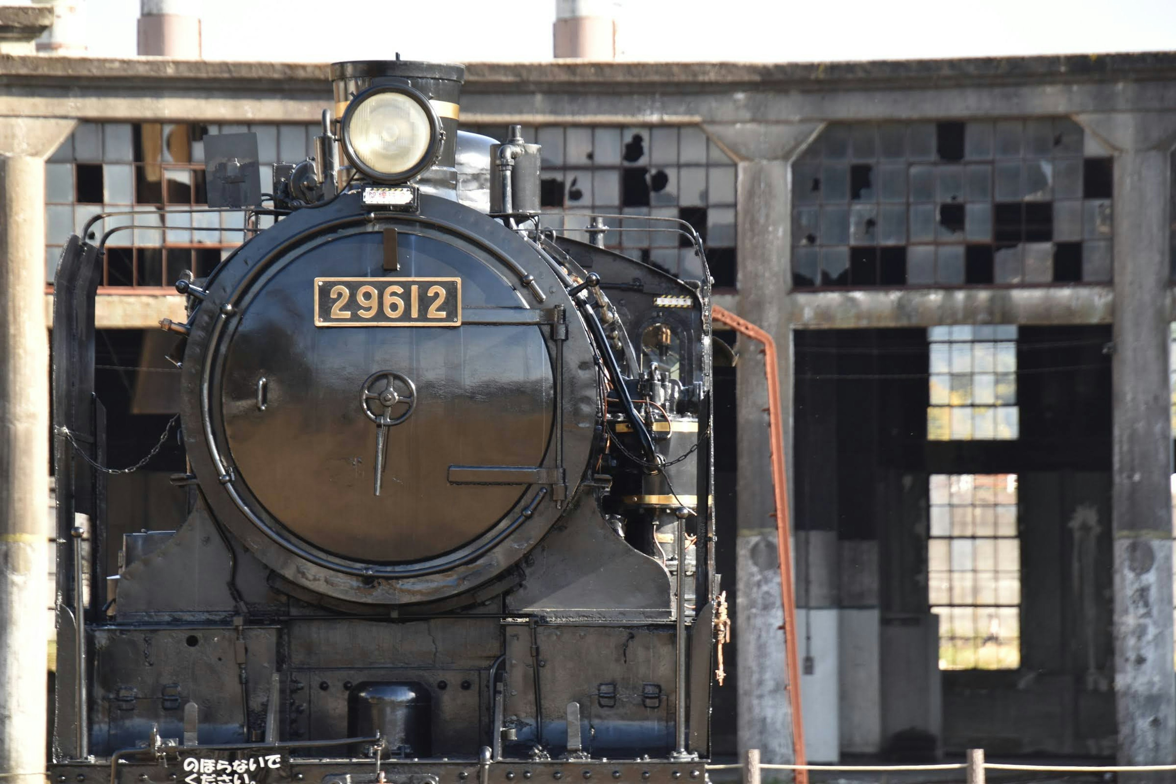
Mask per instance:
[[[328,82],[325,63],[0,55],[0,115],[313,122],[330,102]],[[755,132],[770,142],[789,126],[834,120],[1054,116],[1174,106],[1176,56],[475,62],[467,66],[463,94],[467,123],[761,123]]]

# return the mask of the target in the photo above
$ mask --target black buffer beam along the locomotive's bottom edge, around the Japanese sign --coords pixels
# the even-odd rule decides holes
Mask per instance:
[[[267,749],[259,749],[265,753]],[[213,755],[214,752],[209,752]],[[287,757],[281,766],[267,770],[263,778],[250,776],[249,782],[299,782],[302,784],[572,784],[572,782],[620,782],[621,784],[686,784],[707,780],[707,760],[671,762],[668,759],[502,759],[481,765],[476,759],[436,759],[401,762],[385,759],[379,772],[374,759],[338,759]],[[127,760],[118,766],[111,779],[108,762],[69,763],[49,766],[49,780],[65,784],[169,784],[185,782],[191,773],[181,760],[168,755],[163,762]],[[198,778],[198,782],[200,779]],[[211,779],[216,782],[214,777]],[[232,780],[232,777],[230,777]],[[243,777],[240,782],[246,780]]]

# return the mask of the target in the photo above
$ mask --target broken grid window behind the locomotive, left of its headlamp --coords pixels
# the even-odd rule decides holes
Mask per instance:
[[[126,212],[95,223],[86,237],[115,230],[106,243],[103,286],[163,287],[188,269],[203,277],[241,243],[243,213],[166,213],[203,207],[203,138],[258,134],[262,185],[276,162],[301,161],[318,126],[82,122],[46,162],[46,279],[52,282],[61,246],[101,213]],[[272,222],[262,216],[260,226]],[[134,228],[129,228],[134,226]]]

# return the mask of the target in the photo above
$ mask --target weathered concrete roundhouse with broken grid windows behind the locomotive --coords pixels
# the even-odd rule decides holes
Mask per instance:
[[[69,232],[123,213],[94,229],[115,232],[98,383],[111,462],[132,463],[173,410],[148,331],[182,316],[167,287],[246,230],[166,207],[202,203],[207,133],[255,130],[263,169],[301,160],[327,69],[6,56],[0,79],[0,155],[45,161],[4,180],[46,229],[8,263],[49,281]],[[641,219],[690,222],[716,300],[774,335],[810,760],[1176,762],[1176,56],[474,63],[461,112],[542,143],[559,226],[622,214],[609,244],[690,277]],[[767,391],[736,348],[716,381],[737,649],[716,742],[784,760]],[[118,524],[175,524],[166,475],[112,484]]]

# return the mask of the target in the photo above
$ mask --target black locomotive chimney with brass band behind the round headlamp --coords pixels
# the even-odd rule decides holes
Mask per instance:
[[[343,116],[353,98],[368,87],[399,83],[408,85],[429,99],[445,129],[445,143],[435,168],[450,170],[457,150],[457,120],[461,115],[461,85],[466,81],[466,66],[413,60],[352,60],[330,66],[330,81],[335,95],[335,118]],[[427,177],[426,177],[427,179]],[[454,177],[454,187],[456,179]]]

